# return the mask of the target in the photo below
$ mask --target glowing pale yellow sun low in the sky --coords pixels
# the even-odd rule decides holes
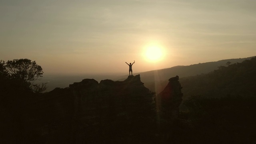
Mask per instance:
[[[146,60],[156,62],[162,59],[163,50],[160,46],[148,46],[144,54]]]

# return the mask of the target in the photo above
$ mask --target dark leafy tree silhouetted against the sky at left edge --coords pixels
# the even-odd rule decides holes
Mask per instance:
[[[46,84],[31,86],[31,81],[38,80],[43,73],[42,67],[29,59],[0,60],[1,91],[31,91],[33,87],[36,92],[42,92]]]

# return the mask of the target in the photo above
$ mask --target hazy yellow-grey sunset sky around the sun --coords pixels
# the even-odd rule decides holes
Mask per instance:
[[[162,60],[148,61],[156,44]],[[0,60],[134,72],[256,55],[256,0],[0,0]]]

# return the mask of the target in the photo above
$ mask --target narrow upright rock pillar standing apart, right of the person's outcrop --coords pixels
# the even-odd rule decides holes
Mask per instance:
[[[157,111],[164,118],[175,119],[178,116],[183,96],[178,80],[178,76],[170,78],[167,86],[155,98]]]

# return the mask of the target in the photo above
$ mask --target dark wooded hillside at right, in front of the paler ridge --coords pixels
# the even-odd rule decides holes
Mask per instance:
[[[210,98],[256,95],[256,57],[241,63],[220,66],[208,74],[180,78],[183,98],[202,95]]]

